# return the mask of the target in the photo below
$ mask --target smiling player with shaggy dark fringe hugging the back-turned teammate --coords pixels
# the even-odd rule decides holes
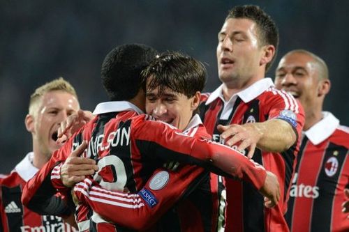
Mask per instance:
[[[147,81],[144,89],[147,114],[174,125],[188,137],[210,138],[195,114],[200,91],[205,86],[204,65],[190,56],[170,52],[153,61],[143,71],[143,77]],[[173,166],[176,165],[174,162]],[[209,173],[202,168],[179,164],[175,171],[158,169],[138,194],[105,191],[91,178],[78,183],[75,193],[80,203],[90,206],[107,222],[128,229],[148,228],[179,199],[181,201],[153,227],[160,231],[217,229],[214,209],[218,193],[211,190]]]

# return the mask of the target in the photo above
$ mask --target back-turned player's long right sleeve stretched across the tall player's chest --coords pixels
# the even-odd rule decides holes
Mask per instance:
[[[188,137],[170,125],[158,121],[138,121],[133,137],[140,152],[164,162],[174,160],[194,164],[209,171],[239,178],[260,189],[265,183],[266,171],[237,150],[207,139]],[[151,133],[149,133],[151,128]],[[150,158],[151,158],[150,157]]]

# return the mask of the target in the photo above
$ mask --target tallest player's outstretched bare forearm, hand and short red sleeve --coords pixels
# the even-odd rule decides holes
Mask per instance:
[[[276,94],[269,99],[269,108],[264,112],[269,120],[265,122],[218,125],[225,144],[238,144],[237,150],[248,148],[250,158],[256,147],[268,152],[283,152],[297,144],[304,125],[304,111],[292,95],[282,94],[284,98]]]

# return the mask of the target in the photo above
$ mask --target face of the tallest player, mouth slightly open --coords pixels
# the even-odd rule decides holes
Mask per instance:
[[[260,72],[262,47],[257,25],[248,19],[228,19],[218,33],[218,76],[225,84],[248,82]]]

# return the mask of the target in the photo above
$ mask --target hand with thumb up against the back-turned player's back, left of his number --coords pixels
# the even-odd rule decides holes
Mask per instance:
[[[93,175],[98,170],[96,161],[79,157],[87,148],[87,142],[83,141],[66,159],[61,166],[61,180],[64,186],[73,187],[75,183],[84,180],[88,175]]]

